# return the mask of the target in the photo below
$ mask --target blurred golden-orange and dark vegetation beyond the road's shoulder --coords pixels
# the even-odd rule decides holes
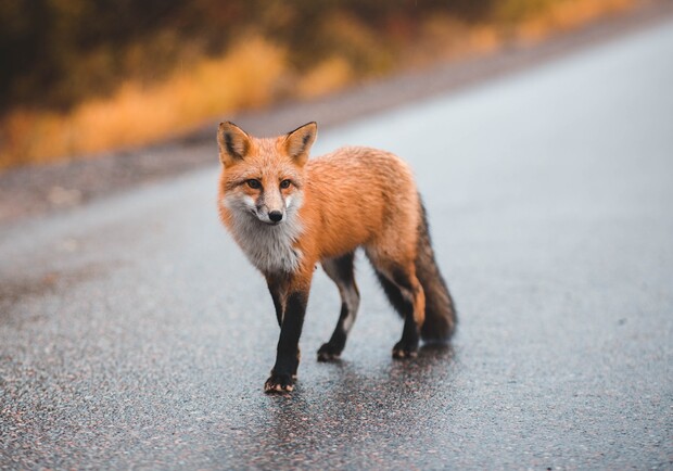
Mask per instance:
[[[639,0],[0,2],[0,173],[535,42]]]

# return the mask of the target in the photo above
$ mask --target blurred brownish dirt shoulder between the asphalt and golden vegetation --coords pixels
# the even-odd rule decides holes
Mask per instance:
[[[673,1],[653,1],[627,14],[555,35],[541,43],[512,44],[491,55],[401,74],[315,101],[288,103],[226,118],[258,136],[284,132],[308,120],[318,122],[325,129],[513,73],[672,17]],[[216,123],[213,123],[162,144],[0,174],[0,228],[213,164],[217,161],[215,129]]]

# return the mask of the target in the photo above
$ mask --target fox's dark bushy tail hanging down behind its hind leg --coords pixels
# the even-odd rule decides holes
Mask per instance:
[[[456,330],[456,309],[434,259],[426,208],[422,203],[420,206],[421,224],[418,230],[416,277],[426,293],[426,321],[421,328],[421,338],[426,342],[444,342],[450,339]]]

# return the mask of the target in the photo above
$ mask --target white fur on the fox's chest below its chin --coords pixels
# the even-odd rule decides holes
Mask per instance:
[[[232,236],[258,270],[272,273],[299,269],[302,252],[294,247],[294,243],[302,234],[302,224],[295,211],[288,212],[281,224],[270,226],[246,212],[231,209]]]

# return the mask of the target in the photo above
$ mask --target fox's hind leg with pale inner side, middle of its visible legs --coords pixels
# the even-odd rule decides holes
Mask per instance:
[[[329,342],[318,349],[318,361],[330,361],[339,358],[346,344],[348,332],[355,322],[357,309],[360,303],[359,291],[355,284],[353,270],[354,253],[347,253],[341,257],[330,258],[321,263],[328,277],[339,288],[341,295],[341,313],[334,332]]]

